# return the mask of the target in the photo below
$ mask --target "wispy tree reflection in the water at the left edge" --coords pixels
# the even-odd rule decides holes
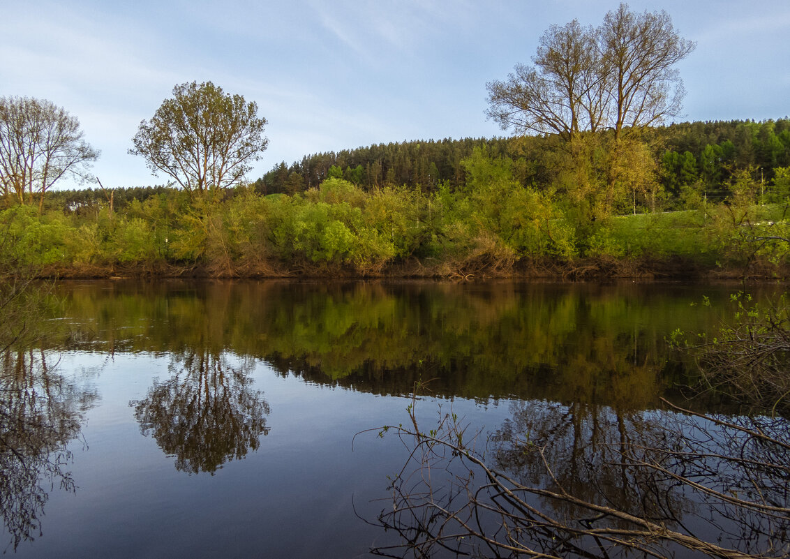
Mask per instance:
[[[58,375],[43,353],[0,355],[0,514],[16,550],[42,533],[49,491],[73,491],[66,445],[97,399]]]

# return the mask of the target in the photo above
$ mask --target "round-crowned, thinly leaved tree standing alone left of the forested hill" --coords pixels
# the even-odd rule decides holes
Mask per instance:
[[[150,121],[142,121],[129,152],[153,174],[170,176],[190,194],[239,182],[269,141],[258,104],[225,94],[212,82],[180,84]]]

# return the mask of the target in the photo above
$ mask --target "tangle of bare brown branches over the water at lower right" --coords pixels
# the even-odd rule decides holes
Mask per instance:
[[[420,430],[415,403],[408,410],[412,426],[381,431],[396,433],[409,452],[389,488],[392,505],[377,520],[401,535],[401,544],[374,553],[585,559],[630,552],[725,559],[790,554],[787,420],[728,420],[680,408],[660,412],[655,425],[634,420],[624,439],[585,451],[599,452],[603,458],[589,467],[622,476],[621,486],[577,487],[555,469],[571,467],[555,461],[552,445],[562,444],[559,439],[539,446],[494,437],[476,450],[480,441],[468,440],[467,427],[452,414],[440,412],[434,429]],[[494,467],[500,459],[486,452],[493,448],[502,456],[496,448],[502,444],[525,456],[532,482]],[[607,478],[611,472],[590,474]],[[687,526],[690,513],[698,524],[709,524],[709,537]]]

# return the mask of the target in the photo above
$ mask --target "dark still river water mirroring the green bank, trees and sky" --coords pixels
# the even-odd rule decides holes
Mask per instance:
[[[529,432],[568,483],[594,483],[591,464],[606,479],[596,445],[660,430],[686,382],[665,337],[713,328],[735,289],[62,283],[47,346],[3,372],[3,549],[368,557],[399,541],[364,520],[392,508],[406,448],[354,436],[408,422],[416,381],[425,425],[452,408],[480,445]]]

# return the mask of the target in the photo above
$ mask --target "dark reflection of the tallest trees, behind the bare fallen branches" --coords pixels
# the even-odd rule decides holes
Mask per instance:
[[[551,516],[596,528],[632,527],[578,504],[592,503],[676,529],[694,508],[671,476],[634,467],[635,456],[645,449],[679,444],[680,434],[668,429],[668,415],[539,401],[513,403],[511,412],[491,437],[492,465],[521,485],[574,496],[574,501],[542,498],[541,507],[553,510]]]

